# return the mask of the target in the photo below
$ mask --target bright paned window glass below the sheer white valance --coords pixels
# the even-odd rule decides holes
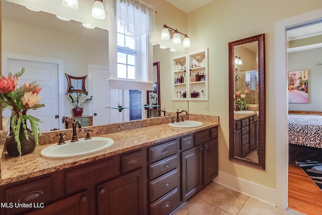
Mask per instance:
[[[117,78],[136,80],[138,41],[117,22]]]

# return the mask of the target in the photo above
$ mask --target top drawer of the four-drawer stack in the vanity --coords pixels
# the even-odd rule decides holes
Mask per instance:
[[[172,140],[170,142],[165,142],[164,144],[160,144],[154,147],[149,148],[149,162],[156,161],[158,159],[162,159],[173,155],[177,152],[178,145],[177,140]]]

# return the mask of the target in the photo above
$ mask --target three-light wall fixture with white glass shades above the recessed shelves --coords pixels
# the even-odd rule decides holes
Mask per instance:
[[[182,34],[184,36],[182,47],[189,48],[191,45],[190,45],[190,40],[189,40],[188,35],[181,33],[177,29],[170,28],[166,24],[164,24],[162,32],[161,32],[161,39],[162,40],[172,39],[173,44],[180,44],[181,43],[180,34]]]

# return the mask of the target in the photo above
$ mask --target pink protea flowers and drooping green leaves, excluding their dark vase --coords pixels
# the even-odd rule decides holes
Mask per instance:
[[[39,104],[42,97],[39,96],[41,87],[36,82],[30,84],[25,83],[23,86],[17,88],[18,77],[22,76],[25,72],[23,67],[19,73],[12,75],[9,73],[8,78],[1,76],[0,78],[0,101],[3,109],[12,110],[11,127],[15,135],[17,142],[17,149],[19,155],[21,154],[21,142],[19,139],[19,132],[21,127],[24,129],[25,137],[27,135],[26,121],[29,120],[31,125],[31,131],[36,140],[36,145],[39,146],[38,136],[41,135],[39,125],[39,119],[27,115],[27,111],[32,109],[44,107],[45,105]]]

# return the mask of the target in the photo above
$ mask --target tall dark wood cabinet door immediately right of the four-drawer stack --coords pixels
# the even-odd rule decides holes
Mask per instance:
[[[182,189],[181,200],[185,201],[202,187],[202,148],[192,148],[181,153]]]

